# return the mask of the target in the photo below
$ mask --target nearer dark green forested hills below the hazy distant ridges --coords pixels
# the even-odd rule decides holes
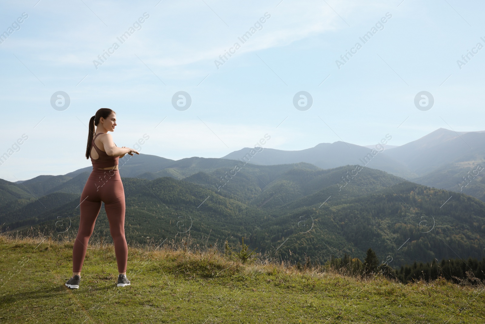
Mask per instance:
[[[203,168],[208,159],[184,160],[173,168],[179,174]],[[322,170],[307,163],[240,163],[236,172],[237,161],[223,161],[218,169],[182,180],[122,177],[127,240],[163,242],[190,233],[195,239],[209,236],[209,243],[227,239],[238,245],[244,237],[252,249],[273,258],[302,261],[310,256],[322,263],[344,253],[364,258],[372,248],[381,260],[392,260],[391,267],[485,255],[485,204],[465,194],[356,166]],[[60,236],[75,235],[80,185],[87,176],[81,172],[62,184],[51,177],[44,178],[45,184],[41,179],[2,181],[3,229],[25,232],[38,225]],[[34,198],[29,186],[59,191]],[[94,234],[110,239],[104,208]]]

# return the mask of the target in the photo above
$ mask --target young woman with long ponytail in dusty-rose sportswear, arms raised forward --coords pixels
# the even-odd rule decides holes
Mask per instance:
[[[95,126],[97,126],[96,131],[94,131]],[[113,137],[108,132],[113,132],[115,126],[116,115],[109,108],[99,109],[89,120],[86,159],[91,157],[93,171],[81,193],[79,230],[72,249],[72,277],[65,283],[71,289],[79,288],[82,263],[101,209],[101,202],[104,202],[104,209],[110,223],[118,265],[116,286],[124,287],[130,284],[126,278],[128,246],[125,239],[125,190],[118,171],[118,159],[127,153],[129,155],[140,153],[125,146],[119,148],[114,144]]]

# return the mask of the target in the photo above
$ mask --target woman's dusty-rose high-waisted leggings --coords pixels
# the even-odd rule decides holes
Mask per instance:
[[[118,272],[125,273],[128,246],[125,239],[125,190],[118,170],[93,169],[81,193],[81,217],[72,249],[72,272],[81,272],[89,238],[93,234],[101,202],[104,202]]]

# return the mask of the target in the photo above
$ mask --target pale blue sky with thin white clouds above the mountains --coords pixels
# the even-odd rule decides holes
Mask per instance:
[[[265,134],[264,147],[301,150],[340,139],[370,145],[386,134],[402,145],[440,127],[485,130],[485,49],[461,69],[456,62],[485,45],[479,1],[32,0],[0,9],[0,33],[14,25],[0,44],[0,154],[28,136],[0,165],[9,181],[90,166],[86,125],[101,107],[117,113],[118,146],[147,134],[142,153],[176,160],[221,157]],[[144,13],[139,30],[117,40]],[[386,13],[364,44],[359,37]],[[339,69],[356,42],[362,48]],[[65,110],[50,104],[57,91],[70,98]],[[178,91],[192,98],[187,110],[172,106]],[[293,106],[299,91],[313,98],[306,111]],[[414,105],[420,91],[433,95],[430,110]]]

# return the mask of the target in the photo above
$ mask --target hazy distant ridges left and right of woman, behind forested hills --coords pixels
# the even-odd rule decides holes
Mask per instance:
[[[140,154],[136,157],[125,156],[120,159],[120,175],[122,177],[138,177],[154,180],[169,176],[174,179],[183,179],[198,172],[210,172],[226,168],[230,173],[235,165],[247,168],[250,165],[283,165],[293,163],[310,163],[321,169],[338,168],[344,165],[363,165],[366,168],[386,171],[406,180],[422,185],[447,190],[463,191],[459,183],[465,181],[469,171],[480,163],[485,167],[485,131],[454,132],[444,128],[423,136],[415,141],[401,146],[390,145],[388,141],[380,147],[372,159],[369,155],[376,145],[366,147],[342,141],[334,143],[320,143],[313,148],[299,151],[284,151],[265,148],[256,152],[253,148],[243,148],[231,152],[221,158],[190,157],[180,160],[171,160],[156,155]],[[250,158],[244,158],[248,156]],[[365,159],[366,157],[367,160]],[[369,161],[370,159],[370,161]],[[33,194],[48,194],[56,191],[73,193],[82,190],[82,182],[63,185],[76,176],[86,177],[91,167],[69,172],[65,175],[42,175],[26,181],[17,181],[24,184]],[[227,175],[222,172],[221,177]],[[485,181],[482,174],[473,177],[465,188],[467,194],[485,201]],[[74,187],[73,187],[74,186]]]

